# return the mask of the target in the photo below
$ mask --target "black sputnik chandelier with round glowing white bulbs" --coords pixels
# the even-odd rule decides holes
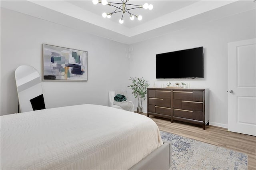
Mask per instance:
[[[135,5],[135,4],[128,4],[127,3],[128,1],[129,0],[121,0],[122,3],[118,3],[118,2],[107,2],[107,0],[92,0],[92,3],[95,5],[98,3],[101,3],[102,5],[109,5],[109,6],[113,6],[116,8],[116,10],[114,10],[113,12],[110,12],[110,13],[104,12],[102,14],[102,16],[104,18],[111,18],[112,14],[122,12],[122,18],[119,20],[120,24],[124,23],[124,20],[123,20],[124,13],[128,13],[130,15],[130,20],[134,20],[135,17],[138,18],[138,20],[142,20],[142,16],[132,14],[130,12],[130,10],[134,10],[137,8],[144,8],[144,9],[149,9],[149,10],[153,9],[152,4],[149,5],[148,3],[145,3],[144,5]]]

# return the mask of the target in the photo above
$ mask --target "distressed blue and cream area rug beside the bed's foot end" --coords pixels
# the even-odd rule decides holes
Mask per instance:
[[[172,143],[170,170],[247,170],[246,154],[176,134],[160,133],[162,139]]]

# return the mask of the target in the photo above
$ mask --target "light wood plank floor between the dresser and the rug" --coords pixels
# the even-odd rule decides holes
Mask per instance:
[[[143,113],[143,115],[146,115]],[[159,130],[178,134],[187,138],[200,140],[223,148],[236,150],[248,155],[248,170],[256,170],[256,136],[228,132],[226,128],[202,126],[174,121],[164,118],[150,118],[158,125]]]

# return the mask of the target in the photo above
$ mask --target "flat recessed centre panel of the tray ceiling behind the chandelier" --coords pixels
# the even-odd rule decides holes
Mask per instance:
[[[74,0],[74,1],[67,1],[70,4],[73,4],[75,6],[78,6],[84,10],[90,11],[100,17],[102,17],[103,12],[113,12],[116,10],[113,6],[103,6],[102,4],[98,3],[94,5],[92,3],[92,0]],[[118,2],[122,3],[121,0],[109,0],[109,2]],[[134,13],[135,15],[141,15],[143,19],[141,21],[135,19],[133,21],[130,20],[130,15],[128,13],[124,14],[124,23],[123,26],[127,28],[133,28],[135,26],[144,24],[150,20],[156,19],[158,17],[161,17],[165,14],[174,12],[176,10],[179,10],[180,8],[183,8],[184,6],[189,6],[190,4],[194,4],[198,1],[194,0],[150,0],[150,1],[141,1],[141,0],[129,0],[128,4],[136,4],[136,5],[143,5],[145,3],[152,4],[154,6],[153,10],[145,10],[144,8],[140,9],[133,9],[130,10],[131,13]],[[120,6],[120,5],[116,5]],[[129,6],[131,7],[131,6]],[[134,7],[131,7],[134,8]],[[120,10],[118,10],[120,11]],[[118,23],[119,19],[122,17],[122,12],[119,12],[117,14],[113,14],[112,17],[108,20],[111,20],[113,22]],[[107,19],[106,19],[107,20]]]

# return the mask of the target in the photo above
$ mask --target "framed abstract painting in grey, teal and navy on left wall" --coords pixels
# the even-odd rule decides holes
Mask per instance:
[[[88,52],[43,44],[43,80],[87,81]]]

